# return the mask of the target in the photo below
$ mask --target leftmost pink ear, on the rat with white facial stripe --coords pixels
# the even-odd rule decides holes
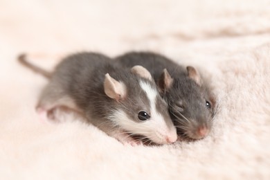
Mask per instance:
[[[104,80],[104,91],[109,98],[120,100],[125,97],[125,84],[111,78],[107,73]]]

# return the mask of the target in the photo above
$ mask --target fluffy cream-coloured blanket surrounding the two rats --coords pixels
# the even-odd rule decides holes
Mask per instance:
[[[0,1],[0,179],[270,179],[270,2]],[[47,69],[61,55],[163,53],[205,72],[217,95],[213,131],[193,143],[125,146],[81,123],[42,123]]]

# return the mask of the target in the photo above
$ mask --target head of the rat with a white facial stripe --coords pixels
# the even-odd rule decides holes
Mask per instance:
[[[174,143],[177,130],[150,73],[142,66],[134,66],[118,79],[105,75],[105,93],[115,102],[109,116],[114,125],[154,143]]]

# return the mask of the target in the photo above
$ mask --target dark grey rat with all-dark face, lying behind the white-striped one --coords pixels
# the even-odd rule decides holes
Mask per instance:
[[[215,98],[193,66],[181,66],[152,52],[129,52],[115,58],[118,64],[141,65],[153,75],[161,96],[168,102],[177,134],[186,139],[208,135],[215,115]]]

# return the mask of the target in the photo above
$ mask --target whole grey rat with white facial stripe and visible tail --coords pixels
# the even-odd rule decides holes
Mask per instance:
[[[122,143],[138,144],[132,135],[157,144],[177,141],[168,104],[143,66],[123,68],[110,57],[87,52],[65,57],[51,73],[28,62],[26,55],[19,62],[49,80],[37,103],[46,118],[64,106]]]

